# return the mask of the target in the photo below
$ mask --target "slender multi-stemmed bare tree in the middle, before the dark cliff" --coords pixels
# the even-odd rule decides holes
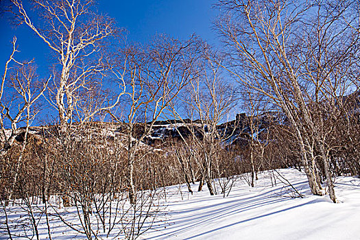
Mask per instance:
[[[225,125],[221,130],[218,128],[234,105],[235,97],[230,84],[226,83],[221,75],[221,65],[217,63],[218,60],[214,60],[219,59],[216,55],[211,53],[209,47],[204,48],[203,61],[200,64],[201,74],[187,86],[180,99],[188,112],[187,117],[191,119],[189,124],[182,120],[191,133],[190,136],[182,136],[182,140],[200,167],[199,191],[203,182],[206,182],[211,195],[216,192],[213,187],[214,176],[222,175],[219,171],[221,148],[232,138],[236,129],[235,125]],[[183,119],[175,105],[173,115],[176,119]],[[181,135],[180,131],[178,132]]]

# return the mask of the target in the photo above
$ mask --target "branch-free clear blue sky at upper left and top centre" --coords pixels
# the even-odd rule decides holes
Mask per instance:
[[[1,2],[1,1],[0,1]],[[23,0],[25,6],[27,0]],[[216,0],[100,0],[97,8],[117,22],[118,27],[128,29],[130,40],[146,43],[154,34],[168,34],[174,38],[187,38],[195,33],[217,43],[211,31],[216,12],[212,9]],[[28,6],[28,5],[27,5]],[[49,63],[49,49],[29,27],[22,25],[14,29],[6,16],[0,18],[0,70],[11,52],[11,41],[18,38],[19,60],[35,58],[40,72],[45,72]]]

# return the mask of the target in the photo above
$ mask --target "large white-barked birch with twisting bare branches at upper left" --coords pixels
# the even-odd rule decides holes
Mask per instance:
[[[62,128],[75,117],[87,121],[119,103],[123,91],[115,98],[93,94],[101,89],[101,77],[112,68],[104,40],[116,32],[112,19],[93,11],[95,1],[32,1],[43,25],[27,14],[21,0],[12,4],[17,23],[25,23],[56,56],[48,101],[58,110]],[[89,105],[82,99],[86,95],[100,99]]]

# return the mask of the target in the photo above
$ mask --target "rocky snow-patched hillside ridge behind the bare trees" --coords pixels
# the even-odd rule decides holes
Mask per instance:
[[[221,139],[226,140],[226,144],[241,144],[246,145],[250,138],[250,117],[245,114],[238,114],[235,120],[227,121],[217,125],[217,132]],[[256,122],[256,130],[261,132],[266,130],[270,121],[278,122],[273,112],[265,112],[263,115],[254,117]],[[151,123],[146,123],[149,126]],[[143,134],[145,123],[134,124],[132,135],[134,139],[140,139]],[[124,142],[128,136],[127,123],[110,123],[110,122],[91,122],[80,125],[73,123],[69,126],[71,138],[79,139],[82,136],[91,135],[93,139],[106,139],[107,141]],[[189,138],[191,134],[202,139],[202,136],[208,132],[206,123],[200,123],[200,120],[191,121],[189,119],[175,120],[168,119],[164,121],[155,121],[152,126],[152,131],[145,136],[141,145],[147,149],[152,149],[155,145],[167,143],[169,140],[182,141]],[[15,144],[23,142],[25,128],[19,128],[16,132],[12,130],[5,130],[5,136],[9,137],[15,134]],[[40,125],[29,127],[29,138],[37,139],[39,143],[44,139],[56,139],[60,136],[59,125]],[[3,136],[0,136],[0,143],[3,144]]]

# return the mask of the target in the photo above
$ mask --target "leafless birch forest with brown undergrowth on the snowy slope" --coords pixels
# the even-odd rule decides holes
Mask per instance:
[[[213,8],[219,45],[196,34],[131,43],[95,0],[5,4],[10,24],[51,51],[51,69],[17,60],[15,36],[1,62],[4,237],[56,239],[56,219],[82,239],[141,238],[167,187],[226,198],[265,171],[306,197],[287,168],[304,173],[311,195],[339,202],[335,178],[360,176],[360,2]],[[28,220],[10,219],[14,209]]]

